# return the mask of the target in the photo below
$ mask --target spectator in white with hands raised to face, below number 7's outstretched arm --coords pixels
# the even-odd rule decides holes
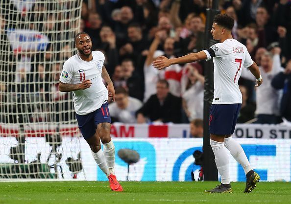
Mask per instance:
[[[182,77],[182,106],[188,121],[203,119],[204,76],[202,67],[194,62],[183,68]],[[184,121],[183,121],[184,122]]]

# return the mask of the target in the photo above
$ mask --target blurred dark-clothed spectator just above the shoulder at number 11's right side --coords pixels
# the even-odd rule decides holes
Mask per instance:
[[[107,72],[112,77],[115,67],[119,63],[119,55],[116,47],[116,37],[111,27],[103,25],[100,30],[101,43],[98,45],[98,50],[103,50],[105,55],[104,66]]]

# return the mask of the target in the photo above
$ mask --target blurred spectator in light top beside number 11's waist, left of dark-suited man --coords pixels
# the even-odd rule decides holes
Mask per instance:
[[[136,123],[136,111],[142,107],[143,103],[133,97],[128,96],[128,91],[123,87],[115,90],[115,102],[109,104],[111,120],[122,123]]]

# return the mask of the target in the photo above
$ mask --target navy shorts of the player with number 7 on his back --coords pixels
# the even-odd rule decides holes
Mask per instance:
[[[209,133],[232,135],[242,104],[212,104],[209,116]]]

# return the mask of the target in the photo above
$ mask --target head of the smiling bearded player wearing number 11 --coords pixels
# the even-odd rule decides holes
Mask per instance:
[[[76,38],[75,46],[81,55],[85,55],[87,57],[92,53],[92,41],[87,34],[80,34]]]

